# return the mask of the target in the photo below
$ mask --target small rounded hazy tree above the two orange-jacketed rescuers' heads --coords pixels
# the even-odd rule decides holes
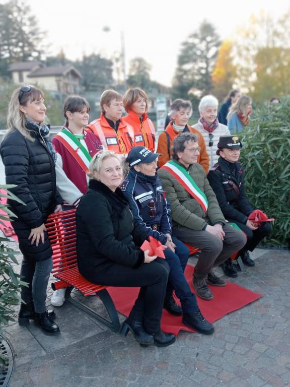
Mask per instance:
[[[130,61],[129,75],[127,83],[130,87],[140,87],[141,89],[150,89],[150,70],[151,65],[143,58],[136,57]]]

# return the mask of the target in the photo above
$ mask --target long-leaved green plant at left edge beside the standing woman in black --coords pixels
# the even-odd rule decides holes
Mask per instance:
[[[0,189],[13,188],[15,185],[0,185]],[[24,205],[11,191],[7,190],[7,194],[0,190],[0,210],[6,214],[0,214],[0,222],[2,220],[9,221],[16,215],[3,204],[1,198],[16,200]],[[2,220],[1,220],[2,219]],[[14,306],[20,302],[19,288],[21,285],[26,286],[26,282],[20,280],[20,275],[13,270],[13,265],[18,265],[16,255],[19,251],[15,251],[9,247],[6,242],[10,242],[8,238],[0,237],[0,333],[3,332],[4,327],[9,324],[9,321],[14,321],[15,310]],[[4,364],[5,358],[0,354],[0,364]]]

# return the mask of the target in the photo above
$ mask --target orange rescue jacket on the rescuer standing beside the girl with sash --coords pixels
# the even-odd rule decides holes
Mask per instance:
[[[100,118],[89,123],[86,130],[99,136],[103,149],[127,156],[133,146],[134,131],[123,117],[120,121],[116,132],[106,120],[105,115],[101,113]]]

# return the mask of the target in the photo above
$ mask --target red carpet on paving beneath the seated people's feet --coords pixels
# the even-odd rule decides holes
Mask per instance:
[[[194,268],[187,265],[185,269],[185,277],[190,284],[190,288],[194,293],[191,279]],[[239,285],[231,282],[227,283],[227,286],[218,287],[209,285],[214,298],[211,301],[202,300],[197,297],[198,306],[201,313],[209,321],[214,322],[219,318],[222,318],[225,314],[234,310],[240,309],[243,306],[257,300],[262,295],[252,292]],[[116,309],[128,316],[135,299],[138,295],[138,288],[108,288],[111,297],[114,300]],[[161,328],[164,332],[171,332],[178,335],[180,330],[194,332],[192,329],[182,324],[181,316],[172,316],[166,310],[163,309],[163,316],[161,321]]]

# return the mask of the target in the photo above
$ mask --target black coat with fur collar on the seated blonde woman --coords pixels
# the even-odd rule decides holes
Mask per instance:
[[[77,250],[80,273],[90,282],[106,285],[106,270],[119,264],[138,268],[144,262],[140,246],[147,234],[134,222],[127,199],[97,180],[77,210]]]

